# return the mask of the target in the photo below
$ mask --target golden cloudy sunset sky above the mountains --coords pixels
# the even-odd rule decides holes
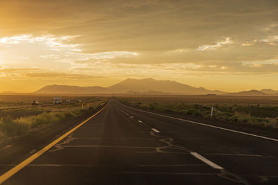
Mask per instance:
[[[277,0],[1,0],[0,91],[126,78],[278,89]]]

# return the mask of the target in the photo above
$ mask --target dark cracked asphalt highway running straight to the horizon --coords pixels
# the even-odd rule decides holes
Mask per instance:
[[[220,126],[112,99],[3,184],[278,184],[278,140]]]

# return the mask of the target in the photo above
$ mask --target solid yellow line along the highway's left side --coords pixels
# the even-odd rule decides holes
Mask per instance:
[[[108,105],[108,103],[105,105],[105,107]],[[99,112],[101,112],[101,110],[105,109],[105,107],[103,107],[102,109],[99,110]],[[94,115],[90,116],[90,118],[86,119],[85,121],[83,121],[82,123],[80,123],[79,125],[77,125],[76,127],[74,127],[72,130],[68,131],[67,133],[63,134],[63,136],[60,136],[58,139],[56,139],[55,141],[53,141],[52,143],[50,143],[48,146],[45,146],[44,148],[42,148],[41,150],[39,150],[38,152],[36,152],[34,155],[32,155],[31,157],[28,157],[27,159],[25,159],[24,161],[22,161],[20,164],[18,164],[17,166],[15,166],[14,168],[8,170],[6,173],[4,173],[3,175],[0,176],[0,184],[2,184],[3,182],[5,182],[8,178],[12,177],[13,175],[15,175],[15,173],[17,173],[19,170],[21,170],[22,168],[24,168],[25,166],[27,166],[28,164],[30,164],[33,160],[37,159],[38,157],[40,157],[40,155],[42,155],[44,152],[47,152],[47,150],[49,150],[50,148],[52,148],[53,146],[56,145],[56,143],[60,142],[61,140],[63,140],[66,136],[72,134],[72,132],[74,132],[76,129],[78,129],[79,127],[81,127],[83,124],[85,124],[86,122],[88,122],[91,118],[95,117],[97,114],[99,114],[99,112],[95,113]]]

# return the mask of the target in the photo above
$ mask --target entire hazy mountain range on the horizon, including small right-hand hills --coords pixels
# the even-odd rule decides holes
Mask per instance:
[[[128,78],[110,87],[79,87],[69,85],[49,85],[42,87],[35,94],[138,94],[138,95],[227,95],[227,96],[278,96],[278,91],[261,89],[228,93],[218,90],[208,90],[203,87],[192,87],[171,80],[154,80],[153,78]]]

